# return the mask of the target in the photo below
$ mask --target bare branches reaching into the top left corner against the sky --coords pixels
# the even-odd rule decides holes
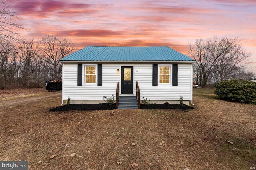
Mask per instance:
[[[6,1],[0,0],[0,36],[19,41],[20,35],[17,31],[24,27],[18,24],[15,17],[15,13],[9,8]]]

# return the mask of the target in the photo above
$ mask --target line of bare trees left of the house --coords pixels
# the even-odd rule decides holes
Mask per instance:
[[[59,60],[72,50],[69,39],[52,35],[38,42],[0,37],[0,87],[44,87],[47,79],[61,80]]]

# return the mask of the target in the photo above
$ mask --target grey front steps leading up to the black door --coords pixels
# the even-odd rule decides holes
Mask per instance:
[[[138,103],[135,95],[120,95],[118,109],[138,109]]]

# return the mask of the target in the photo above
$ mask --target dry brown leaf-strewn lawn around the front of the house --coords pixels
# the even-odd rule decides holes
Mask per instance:
[[[61,92],[33,94],[1,101],[0,160],[26,160],[30,169],[256,167],[256,105],[219,100],[212,89],[195,90],[186,112],[49,112]]]

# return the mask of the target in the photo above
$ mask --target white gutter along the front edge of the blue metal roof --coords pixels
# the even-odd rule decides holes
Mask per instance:
[[[146,60],[146,61],[89,61],[89,60],[60,60],[60,63],[195,63],[192,61],[180,60]]]

